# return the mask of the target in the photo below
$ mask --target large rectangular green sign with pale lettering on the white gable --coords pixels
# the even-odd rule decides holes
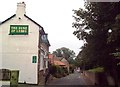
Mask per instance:
[[[10,35],[28,35],[28,25],[10,25]]]

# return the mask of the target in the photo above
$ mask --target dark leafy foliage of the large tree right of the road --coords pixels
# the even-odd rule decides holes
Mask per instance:
[[[73,34],[78,39],[84,40],[84,46],[77,58],[80,59],[80,64],[84,63],[87,68],[97,66],[110,68],[113,65],[113,57],[110,53],[115,52],[116,45],[120,47],[118,45],[120,34],[114,33],[111,37],[115,36],[118,39],[111,39],[108,30],[116,25],[115,18],[120,13],[120,2],[86,2],[85,8],[73,10],[75,18],[73,27],[76,28]],[[118,28],[116,32],[117,30]],[[116,40],[117,43],[112,43],[111,40]]]

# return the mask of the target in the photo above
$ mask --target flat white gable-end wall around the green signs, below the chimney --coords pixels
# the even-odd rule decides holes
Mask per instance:
[[[28,25],[28,35],[9,35],[10,25]],[[37,84],[37,63],[32,63],[32,56],[38,59],[39,26],[29,19],[17,16],[0,25],[2,42],[2,68],[19,70],[19,82]],[[38,61],[37,61],[38,62]]]

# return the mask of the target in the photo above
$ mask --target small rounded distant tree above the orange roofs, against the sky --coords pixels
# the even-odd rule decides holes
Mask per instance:
[[[73,58],[75,57],[75,52],[66,47],[56,49],[56,51],[53,51],[53,54],[57,57],[64,57],[71,63],[73,62]]]

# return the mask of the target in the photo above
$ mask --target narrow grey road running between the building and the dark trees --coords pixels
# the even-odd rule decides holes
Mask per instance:
[[[48,85],[90,85],[86,79],[84,79],[80,73],[70,74],[66,77],[53,80]]]

